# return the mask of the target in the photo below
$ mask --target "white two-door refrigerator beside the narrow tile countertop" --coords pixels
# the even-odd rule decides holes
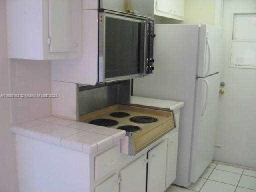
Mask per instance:
[[[184,101],[175,184],[195,182],[213,158],[220,83],[220,27],[156,24],[152,75],[133,80],[133,95]]]

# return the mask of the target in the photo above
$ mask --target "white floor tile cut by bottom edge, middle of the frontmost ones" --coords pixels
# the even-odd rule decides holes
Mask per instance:
[[[200,192],[234,192],[234,190],[233,185],[207,180]]]

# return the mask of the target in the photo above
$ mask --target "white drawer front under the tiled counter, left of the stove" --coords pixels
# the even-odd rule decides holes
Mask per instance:
[[[118,157],[120,147],[114,146],[95,157],[95,180],[99,180],[109,173],[113,173]]]

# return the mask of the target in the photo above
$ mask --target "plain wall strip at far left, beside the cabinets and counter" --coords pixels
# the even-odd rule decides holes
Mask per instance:
[[[0,94],[9,92],[5,0],[0,0]],[[0,192],[17,192],[15,149],[8,99],[0,98]]]

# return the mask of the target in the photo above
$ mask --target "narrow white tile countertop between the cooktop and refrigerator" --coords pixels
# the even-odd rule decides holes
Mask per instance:
[[[177,110],[184,106],[184,102],[172,101],[172,100],[162,100],[156,98],[146,98],[140,96],[131,96],[131,104],[140,104],[145,106],[154,106],[160,108],[167,108],[170,110]]]

